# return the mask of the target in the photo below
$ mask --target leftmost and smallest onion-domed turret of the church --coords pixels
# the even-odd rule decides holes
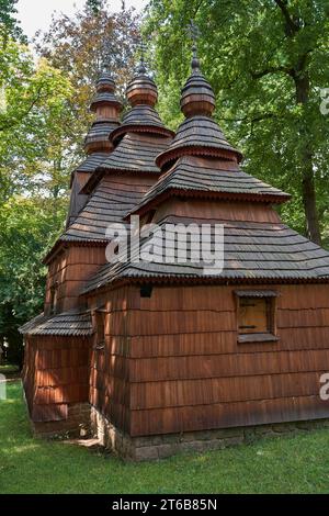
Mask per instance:
[[[109,153],[113,149],[110,134],[120,125],[122,102],[115,97],[115,82],[109,71],[103,71],[97,83],[97,93],[92,99],[90,110],[97,120],[92,124],[86,141],[88,154]]]

